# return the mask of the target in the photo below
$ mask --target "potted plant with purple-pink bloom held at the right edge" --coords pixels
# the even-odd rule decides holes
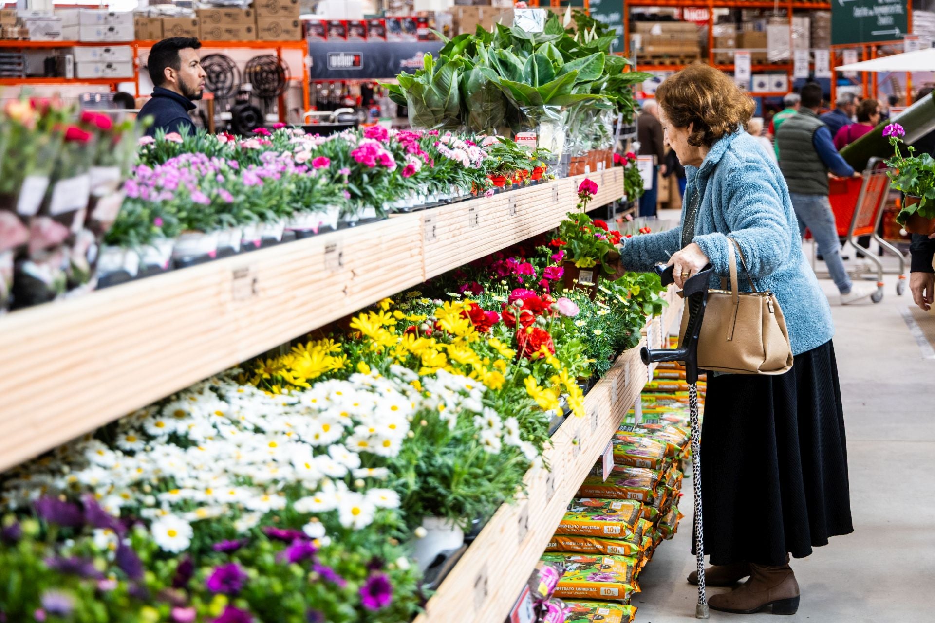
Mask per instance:
[[[899,123],[890,123],[883,129],[889,137],[895,154],[885,161],[892,169],[887,172],[890,187],[902,191],[906,196],[902,209],[896,217],[899,224],[912,234],[935,234],[935,160],[928,153],[915,155],[908,146],[908,156],[899,151],[899,143],[906,131]]]

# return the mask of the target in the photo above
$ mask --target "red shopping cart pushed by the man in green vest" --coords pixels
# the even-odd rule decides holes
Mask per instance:
[[[880,221],[883,219],[884,206],[889,198],[889,170],[881,166],[882,160],[871,158],[864,169],[862,177],[832,177],[828,183],[828,201],[831,211],[837,222],[838,235],[844,244],[850,245],[855,252],[861,253],[872,266],[866,265],[858,276],[876,276],[877,291],[870,296],[873,303],[883,300],[885,270],[883,262],[870,249],[857,245],[857,238],[870,235],[882,248],[890,251],[899,260],[899,280],[896,284],[896,293],[902,295],[906,291],[906,257],[887,242],[877,232]],[[807,234],[808,235],[808,234]],[[870,268],[870,271],[866,270]],[[874,270],[875,269],[875,270]]]

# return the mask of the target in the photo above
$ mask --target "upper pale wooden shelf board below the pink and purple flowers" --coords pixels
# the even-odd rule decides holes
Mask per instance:
[[[0,472],[593,207],[622,169],[394,216],[0,318]],[[557,196],[557,201],[555,197]]]

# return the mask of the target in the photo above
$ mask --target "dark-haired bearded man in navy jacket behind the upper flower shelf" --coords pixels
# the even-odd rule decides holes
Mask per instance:
[[[199,48],[201,42],[194,36],[173,36],[152,46],[148,65],[155,88],[137,115],[139,120],[152,117],[147,135],[155,135],[159,129],[168,134],[182,128],[194,133],[188,113],[195,108],[193,100],[201,99],[208,76],[201,68]]]

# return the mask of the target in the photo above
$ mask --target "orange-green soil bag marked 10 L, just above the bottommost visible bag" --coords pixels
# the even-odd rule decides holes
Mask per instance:
[[[628,602],[634,593],[640,592],[636,581],[640,562],[634,557],[555,552],[542,554],[541,559],[565,565],[565,575],[555,588],[555,597]]]

